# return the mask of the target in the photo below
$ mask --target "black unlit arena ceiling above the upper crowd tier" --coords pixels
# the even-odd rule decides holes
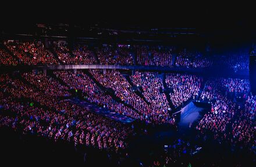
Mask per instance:
[[[73,37],[98,37],[118,31],[118,35],[145,38],[177,37],[194,34],[204,38],[255,38],[254,10],[213,6],[166,5],[165,8],[130,4],[131,8],[87,6],[79,8],[21,9],[12,17],[3,14],[0,30],[5,34],[62,35]],[[222,5],[220,5],[222,6]],[[76,6],[77,7],[77,6]],[[130,6],[129,6],[130,7]],[[99,9],[99,10],[98,10]],[[51,9],[52,10],[52,9]],[[146,12],[144,12],[146,10]],[[245,12],[246,11],[246,12]],[[38,23],[45,27],[38,27]],[[61,24],[60,24],[61,23]],[[176,34],[176,35],[173,35]],[[177,35],[179,34],[179,35]],[[115,36],[115,35],[114,35]],[[219,39],[218,39],[219,40]]]

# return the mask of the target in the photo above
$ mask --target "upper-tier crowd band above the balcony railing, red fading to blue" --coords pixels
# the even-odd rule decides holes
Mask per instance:
[[[73,49],[65,41],[52,41],[48,48],[42,41],[6,40],[3,44],[14,57],[1,49],[1,64],[101,64],[172,66],[188,68],[227,67],[234,72],[249,70],[248,50],[235,50],[209,56],[202,52],[180,50],[173,46],[95,45],[76,43]],[[55,53],[56,54],[55,54]],[[56,55],[56,56],[55,56]],[[176,56],[173,56],[176,55]]]

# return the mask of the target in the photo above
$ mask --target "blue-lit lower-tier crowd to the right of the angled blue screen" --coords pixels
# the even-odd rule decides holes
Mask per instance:
[[[252,103],[253,96],[248,85],[248,79],[209,79],[201,93],[201,100],[211,102],[212,108],[201,119],[197,129],[201,133],[212,132],[216,140],[230,143],[233,147],[255,151],[255,110],[251,110],[255,103]],[[229,92],[243,92],[246,102],[235,103],[228,96]]]

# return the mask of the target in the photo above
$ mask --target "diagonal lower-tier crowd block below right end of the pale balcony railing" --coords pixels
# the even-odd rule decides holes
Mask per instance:
[[[154,105],[148,104],[131,89],[130,83],[119,71],[106,70],[105,74],[100,70],[91,70],[90,72],[101,85],[113,89],[115,91],[115,96],[140,113],[140,115],[143,116],[141,119],[154,124],[173,122],[172,119],[168,117],[168,108],[165,108],[165,110],[162,111],[159,109],[155,110],[155,107],[152,107]]]

